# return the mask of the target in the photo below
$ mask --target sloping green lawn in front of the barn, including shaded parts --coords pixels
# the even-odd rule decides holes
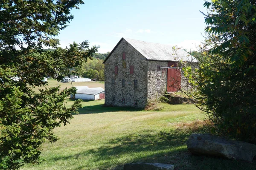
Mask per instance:
[[[66,105],[71,105],[70,100]],[[204,115],[194,105],[161,104],[161,111],[102,107],[83,102],[70,125],[56,128],[59,140],[44,143],[39,165],[22,170],[122,170],[131,162],[174,164],[175,170],[255,170],[255,163],[192,156],[183,123]]]

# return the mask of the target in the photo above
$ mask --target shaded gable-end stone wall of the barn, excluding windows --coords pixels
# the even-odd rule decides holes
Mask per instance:
[[[125,52],[125,59],[122,53]],[[127,41],[122,40],[105,62],[105,105],[144,107],[147,102],[147,60]],[[130,65],[134,74],[130,74]],[[115,66],[118,74],[115,75]],[[112,79],[114,85],[112,85]],[[125,87],[122,87],[125,79]],[[134,80],[138,81],[134,88]],[[135,105],[137,102],[137,105]]]

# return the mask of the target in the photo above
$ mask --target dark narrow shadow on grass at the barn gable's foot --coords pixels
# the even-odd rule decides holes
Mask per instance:
[[[105,113],[105,112],[119,112],[119,111],[143,111],[141,108],[128,108],[128,107],[104,107],[104,105],[90,105],[79,108],[79,114],[90,113]]]

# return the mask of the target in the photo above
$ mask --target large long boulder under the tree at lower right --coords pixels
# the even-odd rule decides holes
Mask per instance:
[[[220,156],[229,159],[253,161],[256,145],[224,139],[211,134],[192,134],[187,141],[188,150],[197,155]]]

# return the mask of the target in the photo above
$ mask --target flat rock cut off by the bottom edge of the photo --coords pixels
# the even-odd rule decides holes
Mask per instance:
[[[174,170],[174,165],[138,162],[138,163],[125,164],[124,170]]]

